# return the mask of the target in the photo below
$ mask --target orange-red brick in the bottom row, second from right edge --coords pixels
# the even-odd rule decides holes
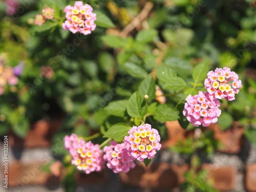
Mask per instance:
[[[209,170],[208,178],[213,181],[214,187],[218,190],[233,190],[237,168],[233,166],[217,167],[212,164],[203,164],[202,169]]]

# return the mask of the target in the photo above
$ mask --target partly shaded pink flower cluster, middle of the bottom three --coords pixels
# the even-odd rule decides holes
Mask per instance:
[[[124,143],[117,144],[116,141],[111,141],[110,146],[105,146],[103,152],[105,153],[103,159],[107,162],[106,166],[113,169],[114,173],[127,173],[135,167],[135,158],[128,155]]]

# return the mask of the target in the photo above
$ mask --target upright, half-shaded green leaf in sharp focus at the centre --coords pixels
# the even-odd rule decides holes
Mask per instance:
[[[143,119],[143,116],[147,114],[147,104],[137,91],[128,100],[127,113],[131,117],[138,117],[140,119]]]

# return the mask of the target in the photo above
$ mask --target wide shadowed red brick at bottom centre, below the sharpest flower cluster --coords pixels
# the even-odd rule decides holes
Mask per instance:
[[[169,163],[155,163],[145,167],[138,163],[127,174],[121,173],[121,181],[126,185],[150,187],[154,189],[173,188],[184,182],[183,174],[188,165],[178,166]]]

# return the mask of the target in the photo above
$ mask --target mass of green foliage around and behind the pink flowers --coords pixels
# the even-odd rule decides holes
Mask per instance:
[[[256,143],[256,11],[251,2],[88,0],[97,13],[97,28],[87,36],[61,27],[63,9],[74,1],[20,1],[24,9],[11,16],[5,15],[1,2],[0,56],[12,67],[24,61],[25,68],[16,89],[6,89],[0,96],[0,134],[12,130],[25,137],[30,122],[61,117],[52,148],[71,133],[88,137],[99,132],[121,141],[129,127],[141,123],[152,124],[164,140],[165,121],[179,120],[184,129],[195,129],[182,115],[186,96],[205,91],[203,80],[209,70],[229,67],[239,74],[243,87],[236,100],[222,100],[218,124],[226,130],[238,121],[246,128],[246,138]],[[148,3],[154,6],[142,25],[129,35],[118,35]],[[46,7],[55,10],[55,18],[35,26],[35,15]],[[40,73],[46,65],[54,71],[50,79]],[[165,104],[155,97],[156,85],[166,96]],[[117,126],[122,127],[120,132]],[[210,157],[219,146],[206,130],[172,150]],[[65,178],[67,191],[75,187],[72,174]],[[215,191],[207,182],[198,190],[193,187],[204,175],[188,172],[184,190]]]

